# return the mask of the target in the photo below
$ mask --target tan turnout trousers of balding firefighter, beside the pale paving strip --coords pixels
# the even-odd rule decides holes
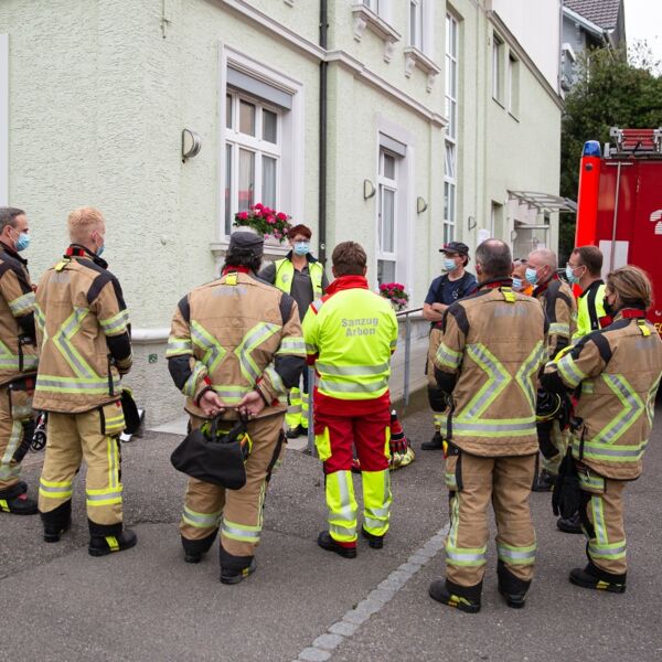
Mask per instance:
[[[488,546],[487,510],[496,520],[496,552],[508,570],[531,581],[535,560],[535,532],[528,496],[535,455],[485,458],[450,455],[446,485],[450,492],[450,528],[446,538],[446,578],[473,587],[482,581]]]

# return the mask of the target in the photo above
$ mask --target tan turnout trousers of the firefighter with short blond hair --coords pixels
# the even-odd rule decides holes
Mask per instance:
[[[46,457],[39,485],[39,511],[47,514],[71,501],[73,480],[85,460],[87,517],[94,524],[121,524],[119,434],[125,419],[119,402],[83,414],[49,413]]]

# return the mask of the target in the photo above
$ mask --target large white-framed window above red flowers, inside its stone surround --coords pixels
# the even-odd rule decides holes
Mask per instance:
[[[279,209],[281,110],[238,92],[226,95],[225,234],[256,202]]]

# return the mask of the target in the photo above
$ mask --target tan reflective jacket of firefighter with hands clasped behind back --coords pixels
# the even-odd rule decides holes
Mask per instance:
[[[181,299],[166,356],[194,416],[206,418],[197,401],[209,388],[227,405],[226,419],[237,418],[235,407],[249,391],[267,404],[259,417],[285,412],[279,398],[306,366],[297,302],[246,269],[226,267]]]

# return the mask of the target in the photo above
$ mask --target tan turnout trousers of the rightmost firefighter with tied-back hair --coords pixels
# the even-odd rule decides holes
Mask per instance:
[[[580,511],[580,514],[584,515],[581,520],[588,538],[586,553],[601,570],[623,575],[628,570],[623,526],[626,483],[622,480],[602,478],[590,470],[587,474],[579,473],[584,498],[584,512]]]

